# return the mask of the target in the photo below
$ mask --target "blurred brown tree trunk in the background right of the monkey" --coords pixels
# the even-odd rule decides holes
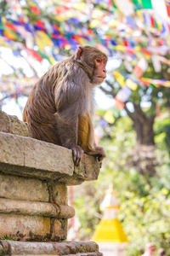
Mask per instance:
[[[129,112],[125,106],[127,115],[133,120],[133,129],[136,131],[137,145],[131,154],[129,164],[136,166],[139,172],[147,176],[155,176],[158,165],[155,156],[155,143],[153,124],[156,116],[148,118],[139,105],[133,105],[134,112]]]

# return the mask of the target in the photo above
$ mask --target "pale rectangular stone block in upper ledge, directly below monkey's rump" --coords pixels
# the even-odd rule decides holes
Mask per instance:
[[[71,150],[32,138],[26,138],[24,143],[25,166],[50,172],[65,172],[69,176],[73,174]]]

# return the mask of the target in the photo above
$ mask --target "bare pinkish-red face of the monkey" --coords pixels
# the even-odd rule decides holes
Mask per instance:
[[[92,78],[92,84],[102,84],[106,78],[106,65],[107,59],[104,56],[99,56],[94,59],[94,75]]]

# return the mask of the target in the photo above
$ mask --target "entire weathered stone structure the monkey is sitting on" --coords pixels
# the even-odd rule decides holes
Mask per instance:
[[[30,135],[27,128],[19,119],[0,111],[0,237],[65,240],[67,218],[75,214],[67,205],[66,185],[97,179],[99,164],[95,157],[84,154],[76,167],[71,150],[26,137]],[[50,250],[42,249],[44,243],[41,249],[39,245],[0,241],[0,256],[51,255]],[[54,255],[99,255],[98,249],[87,247],[87,243],[52,245]],[[17,247],[14,252],[13,247]],[[26,247],[31,248],[30,253]]]

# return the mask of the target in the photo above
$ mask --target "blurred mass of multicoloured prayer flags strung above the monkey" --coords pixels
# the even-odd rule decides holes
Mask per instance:
[[[53,15],[57,14],[56,20],[61,19],[57,25],[56,20],[52,22],[44,17],[38,20],[42,11],[39,1],[28,2],[31,12],[37,15],[37,21],[28,19],[24,4],[20,4],[19,0],[7,1],[10,9],[15,11],[18,6],[18,11],[11,18],[0,16],[0,45],[13,49],[14,55],[19,56],[21,49],[26,49],[31,58],[37,61],[46,58],[54,64],[58,59],[59,49],[75,51],[77,44],[89,44],[109,56],[116,51],[127,72],[133,73],[130,77],[128,74],[113,72],[117,83],[122,89],[125,87],[120,92],[122,99],[117,94],[122,103],[126,98],[124,94],[130,95],[127,88],[137,90],[137,84],[169,87],[169,81],[141,77],[150,59],[157,73],[161,72],[162,63],[170,65],[170,61],[165,58],[170,52],[170,0],[92,0],[95,3],[94,9],[81,1],[44,3],[44,6],[52,10]],[[26,17],[22,17],[23,15]],[[90,20],[90,26],[82,26],[81,23],[87,20]],[[95,29],[102,33],[96,34]],[[37,46],[37,50],[34,46]]]

